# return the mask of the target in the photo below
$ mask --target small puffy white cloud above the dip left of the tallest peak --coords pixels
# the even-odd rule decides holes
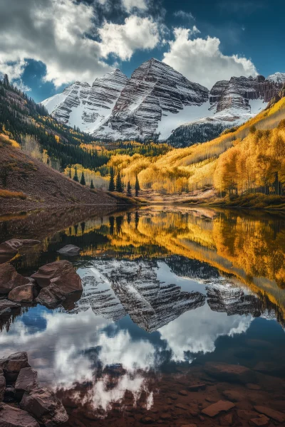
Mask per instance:
[[[126,18],[122,25],[105,22],[98,32],[104,58],[113,53],[121,60],[128,60],[135,50],[153,49],[160,41],[157,23],[135,15]]]

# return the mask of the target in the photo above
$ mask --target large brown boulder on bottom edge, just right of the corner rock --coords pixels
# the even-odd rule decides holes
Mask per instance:
[[[46,388],[33,389],[30,394],[24,394],[20,407],[46,427],[56,427],[68,421],[63,404],[53,391]]]

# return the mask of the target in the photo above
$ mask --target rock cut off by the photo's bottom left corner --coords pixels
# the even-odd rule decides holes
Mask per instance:
[[[37,421],[26,411],[2,404],[0,410],[1,427],[39,427]]]

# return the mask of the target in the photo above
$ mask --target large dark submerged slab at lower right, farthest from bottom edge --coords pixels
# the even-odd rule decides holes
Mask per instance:
[[[255,372],[241,365],[207,362],[204,366],[204,370],[209,376],[213,376],[220,381],[242,384],[256,381]]]

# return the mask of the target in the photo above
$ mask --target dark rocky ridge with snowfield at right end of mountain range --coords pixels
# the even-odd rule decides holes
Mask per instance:
[[[218,137],[225,129],[242,125],[264,110],[267,102],[280,90],[285,74],[264,78],[232,77],[221,80],[209,92],[209,112],[200,120],[177,127],[168,138],[173,147],[187,147]]]

